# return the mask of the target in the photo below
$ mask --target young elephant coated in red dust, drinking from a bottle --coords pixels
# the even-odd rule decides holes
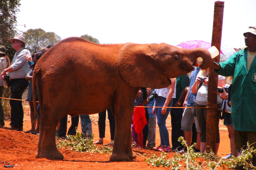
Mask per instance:
[[[36,157],[63,159],[55,144],[55,129],[64,116],[95,114],[111,107],[116,131],[110,160],[134,159],[131,121],[139,87],[169,86],[169,78],[193,70],[197,57],[203,58],[202,68],[209,67],[211,55],[205,49],[165,43],[95,44],[77,37],[57,43],[38,60],[33,73],[41,111]]]

